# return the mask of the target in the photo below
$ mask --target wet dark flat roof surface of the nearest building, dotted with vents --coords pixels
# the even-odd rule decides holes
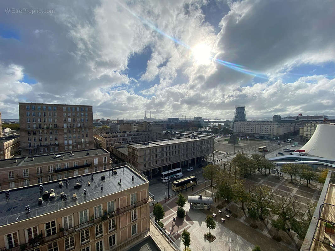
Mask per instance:
[[[68,178],[67,184],[65,179],[63,179],[62,187],[59,186],[59,180],[43,183],[43,191],[49,191],[50,193],[50,190],[54,189],[55,198],[43,199],[42,205],[38,204],[39,197],[42,197],[39,185],[12,189],[9,191],[9,200],[6,199],[4,191],[0,192],[0,226],[16,222],[17,220],[51,213],[61,208],[77,205],[148,182],[128,166],[114,168],[114,171],[117,172],[115,175],[112,175],[112,169],[109,170],[95,172],[93,173],[93,178],[91,178],[91,174],[83,175],[82,179],[80,176]],[[102,180],[103,174],[105,174],[105,180]],[[134,175],[134,181],[132,181],[132,175]],[[118,184],[120,178],[122,179],[122,185]],[[90,182],[90,186],[88,186],[88,181]],[[76,183],[79,183],[81,186],[74,188]],[[103,190],[101,190],[100,184],[103,184]],[[86,189],[86,195],[84,195],[84,189]],[[61,192],[67,194],[66,201],[61,199]],[[74,193],[76,193],[77,199],[72,198]],[[30,207],[29,215],[25,213],[24,207],[26,205]]]

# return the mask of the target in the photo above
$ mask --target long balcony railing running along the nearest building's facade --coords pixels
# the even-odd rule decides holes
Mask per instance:
[[[97,217],[97,218],[92,219],[92,220],[90,220],[88,222],[79,224],[77,226],[74,226],[74,227],[69,228],[69,229],[64,230],[64,231],[60,231],[60,232],[58,232],[56,234],[45,236],[45,237],[37,236],[37,238],[34,238],[34,239],[30,240],[30,242],[21,245],[21,246],[25,246],[25,249],[22,249],[21,246],[18,246],[18,247],[14,247],[14,248],[5,249],[5,250],[8,250],[8,251],[21,251],[21,250],[26,250],[26,249],[29,249],[29,248],[34,248],[34,247],[37,247],[39,245],[55,241],[55,240],[60,239],[62,237],[65,237],[65,236],[68,236],[68,235],[71,235],[71,234],[75,234],[75,233],[77,233],[79,231],[82,231],[83,229],[85,229],[87,227],[93,227],[93,226],[95,226],[97,224],[106,222],[110,218],[113,218],[113,217],[115,217],[115,216],[117,216],[119,214],[126,213],[127,211],[130,211],[130,210],[132,210],[135,207],[138,207],[138,206],[144,205],[146,203],[150,203],[150,202],[151,202],[151,198],[150,197],[149,198],[145,198],[145,199],[137,201],[137,202],[135,202],[135,203],[133,203],[131,205],[128,205],[128,206],[125,206],[125,207],[122,207],[122,208],[117,208],[117,210],[115,210],[115,211],[113,211],[111,213],[108,213],[108,214],[105,214],[103,216]],[[31,243],[35,243],[35,245],[31,244]]]

